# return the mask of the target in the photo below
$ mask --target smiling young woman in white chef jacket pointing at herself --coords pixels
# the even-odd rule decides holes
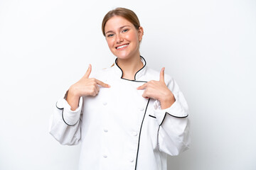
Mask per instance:
[[[188,149],[188,106],[176,81],[146,66],[143,28],[127,8],[108,12],[102,33],[114,65],[84,77],[56,103],[50,134],[82,142],[80,169],[167,169],[167,154]]]

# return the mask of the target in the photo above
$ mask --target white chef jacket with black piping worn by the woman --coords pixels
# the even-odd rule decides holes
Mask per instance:
[[[95,97],[80,97],[75,111],[65,97],[56,103],[50,134],[62,145],[82,142],[80,170],[166,170],[167,154],[188,149],[188,105],[183,94],[165,74],[174,104],[162,110],[159,101],[143,98],[144,90],[137,87],[159,80],[160,73],[149,69],[143,57],[141,60],[144,67],[134,80],[122,79],[117,62],[94,74],[111,87],[100,86]]]

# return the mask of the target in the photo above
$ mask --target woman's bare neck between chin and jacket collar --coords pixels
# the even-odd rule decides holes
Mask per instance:
[[[127,60],[117,58],[117,64],[122,69],[122,78],[130,80],[134,80],[134,75],[143,67],[140,55]]]

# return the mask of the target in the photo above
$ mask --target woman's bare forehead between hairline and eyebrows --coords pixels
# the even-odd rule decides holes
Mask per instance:
[[[105,32],[118,29],[122,26],[133,26],[133,24],[122,16],[113,16],[107,21],[105,25]]]

